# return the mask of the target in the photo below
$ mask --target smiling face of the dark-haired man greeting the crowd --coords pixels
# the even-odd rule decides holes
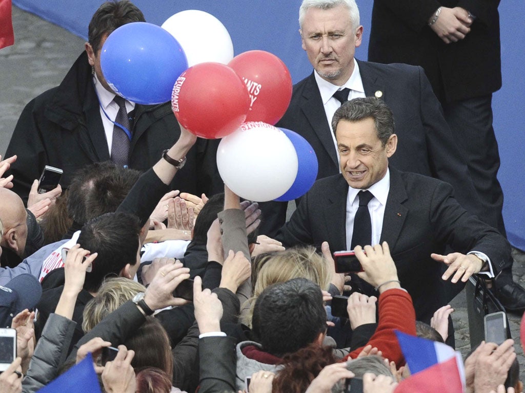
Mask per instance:
[[[350,187],[365,190],[385,176],[388,158],[397,147],[395,134],[383,146],[377,137],[374,119],[367,117],[357,122],[341,120],[335,138],[341,173]]]

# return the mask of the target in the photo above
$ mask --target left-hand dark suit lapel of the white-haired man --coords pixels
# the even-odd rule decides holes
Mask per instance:
[[[327,115],[324,112],[324,105],[321,100],[321,93],[317,86],[316,78],[313,76],[313,72],[308,78],[308,85],[303,90],[303,101],[301,102],[301,111],[307,118],[313,132],[317,135],[321,141],[324,149],[330,155],[333,163],[339,168],[339,161],[337,158],[337,152],[333,145],[333,139],[331,136],[330,125],[328,124]]]

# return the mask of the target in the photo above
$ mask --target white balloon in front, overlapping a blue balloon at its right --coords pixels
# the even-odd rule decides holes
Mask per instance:
[[[271,201],[284,194],[297,176],[297,152],[277,127],[248,122],[224,137],[217,149],[224,183],[242,198]]]

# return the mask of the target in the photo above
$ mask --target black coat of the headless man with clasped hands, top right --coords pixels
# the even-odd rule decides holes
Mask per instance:
[[[368,58],[421,65],[442,102],[487,95],[501,87],[499,0],[374,0]],[[476,16],[466,37],[446,44],[428,27],[439,6]]]

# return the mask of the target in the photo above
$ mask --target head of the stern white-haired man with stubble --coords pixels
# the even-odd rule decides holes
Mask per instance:
[[[363,26],[352,26],[348,8],[309,8],[299,31],[302,49],[321,78],[339,86],[348,81],[363,34]]]

